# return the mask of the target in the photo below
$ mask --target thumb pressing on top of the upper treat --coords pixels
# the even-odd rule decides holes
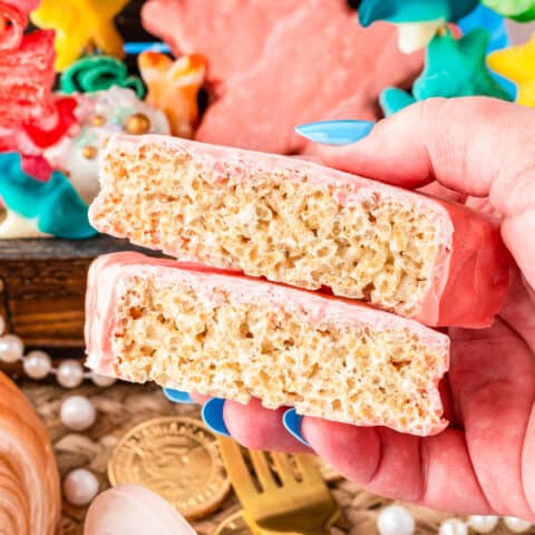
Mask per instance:
[[[381,120],[362,140],[322,146],[327,165],[402,187],[432,181],[489,197],[503,214],[535,207],[535,109],[503,100],[429,99]]]

